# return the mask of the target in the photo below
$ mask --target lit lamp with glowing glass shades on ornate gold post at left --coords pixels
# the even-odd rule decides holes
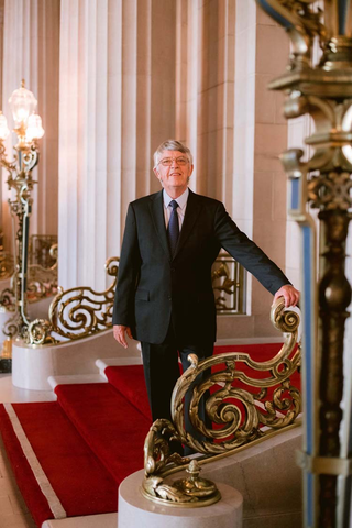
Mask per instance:
[[[14,198],[9,199],[12,217],[14,276],[13,290],[15,297],[15,311],[7,322],[3,332],[13,338],[26,336],[30,324],[26,312],[26,279],[28,279],[28,252],[30,217],[32,213],[32,190],[34,182],[32,170],[38,163],[38,148],[36,140],[44,135],[42,120],[34,113],[36,99],[33,94],[22,86],[14,90],[9,99],[18,135],[14,160],[9,162],[6,157],[3,142],[10,131],[7,119],[0,114],[0,165],[8,172],[9,189],[14,190]]]

